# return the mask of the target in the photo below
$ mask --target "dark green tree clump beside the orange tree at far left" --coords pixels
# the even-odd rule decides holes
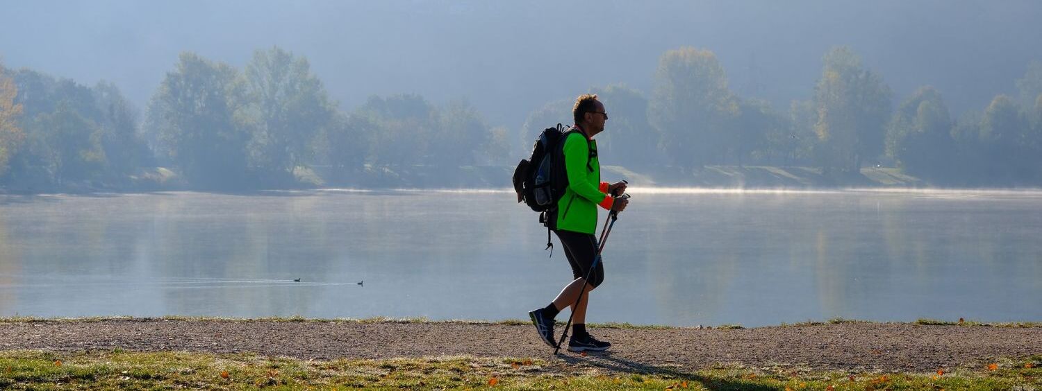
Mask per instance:
[[[7,183],[27,186],[119,184],[151,152],[142,140],[132,106],[107,82],[86,87],[68,79],[19,70],[14,74],[24,107],[24,144],[10,156]]]

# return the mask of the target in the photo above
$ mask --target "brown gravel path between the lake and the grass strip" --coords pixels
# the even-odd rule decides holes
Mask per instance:
[[[559,327],[560,328],[560,327]],[[932,372],[1042,354],[1042,328],[842,322],[756,329],[591,329],[609,353],[557,357],[531,325],[468,322],[103,319],[0,322],[0,350],[255,353],[297,359],[537,358],[609,372],[719,364]]]

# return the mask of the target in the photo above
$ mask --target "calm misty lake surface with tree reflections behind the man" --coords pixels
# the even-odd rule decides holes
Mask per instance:
[[[630,193],[589,321],[1042,320],[1042,191]],[[0,316],[526,318],[571,276],[514,201],[0,196]]]

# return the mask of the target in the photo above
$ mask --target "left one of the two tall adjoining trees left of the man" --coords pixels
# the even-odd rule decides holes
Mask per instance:
[[[244,185],[249,134],[234,114],[246,102],[238,72],[195,53],[181,53],[148,108],[148,122],[166,152],[194,184]]]

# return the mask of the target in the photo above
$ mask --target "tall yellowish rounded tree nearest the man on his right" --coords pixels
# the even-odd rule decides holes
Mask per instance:
[[[718,153],[715,161],[723,160],[739,108],[716,55],[680,48],[660,57],[648,112],[671,163],[690,168]]]

